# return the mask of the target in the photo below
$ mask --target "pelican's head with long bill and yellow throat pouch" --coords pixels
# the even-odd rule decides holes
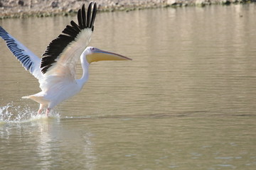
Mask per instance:
[[[103,51],[95,47],[87,47],[85,52],[86,52],[86,59],[89,64],[91,62],[98,62],[103,60],[132,60],[128,57],[124,57],[123,55],[118,55],[113,52]]]

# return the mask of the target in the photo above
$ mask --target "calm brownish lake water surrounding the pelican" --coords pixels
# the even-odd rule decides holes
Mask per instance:
[[[41,56],[76,17],[1,20]],[[0,169],[256,169],[256,4],[98,13],[84,89],[36,116],[40,89],[0,41]],[[78,69],[78,77],[81,69]]]

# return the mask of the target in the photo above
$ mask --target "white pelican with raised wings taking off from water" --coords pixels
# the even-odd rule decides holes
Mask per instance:
[[[60,102],[78,94],[89,77],[90,63],[102,60],[132,60],[96,47],[87,47],[94,30],[96,12],[96,2],[90,2],[87,14],[83,4],[78,10],[78,23],[70,21],[70,25],[50,42],[41,58],[0,26],[0,37],[4,39],[9,50],[38,79],[41,91],[22,97],[40,104],[38,114],[45,111],[48,116]],[[75,67],[79,59],[83,72],[80,79],[75,79]]]

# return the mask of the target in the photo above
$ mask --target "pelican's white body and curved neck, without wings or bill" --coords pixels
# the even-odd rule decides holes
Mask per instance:
[[[89,63],[86,60],[86,55],[92,53],[92,48],[87,47],[80,56],[83,69],[81,79],[73,79],[70,72],[65,73],[66,69],[58,72],[58,74],[42,74],[42,78],[38,80],[42,91],[31,96],[24,96],[23,98],[30,98],[40,103],[40,108],[43,109],[54,108],[58,103],[78,94],[89,77]]]

